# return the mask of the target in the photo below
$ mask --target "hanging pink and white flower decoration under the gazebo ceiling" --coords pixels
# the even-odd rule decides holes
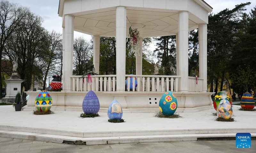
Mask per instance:
[[[129,28],[129,35],[130,35],[130,44],[131,44],[131,52],[135,54],[140,53],[139,48],[139,41],[140,41],[140,33],[137,29],[132,29],[132,27]]]

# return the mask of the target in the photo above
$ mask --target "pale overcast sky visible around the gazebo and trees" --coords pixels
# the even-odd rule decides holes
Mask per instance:
[[[247,6],[247,13],[256,6],[256,0],[204,0],[213,8],[213,13],[218,13],[226,8],[233,9],[235,5],[251,2],[250,6]],[[61,17],[58,15],[59,0],[9,0],[12,3],[18,3],[22,6],[30,8],[30,10],[42,18],[44,18],[43,26],[48,30],[55,30],[62,33]],[[86,39],[90,39],[91,36],[79,32],[74,32],[74,37],[83,35]]]

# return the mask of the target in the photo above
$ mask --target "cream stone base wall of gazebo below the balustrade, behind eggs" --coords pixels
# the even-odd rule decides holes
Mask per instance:
[[[82,104],[86,91],[81,92],[49,92],[52,96],[52,110],[83,111]],[[159,99],[163,92],[97,92],[100,101],[100,112],[107,112],[110,103],[116,99],[125,113],[154,113],[159,110]],[[178,101],[177,112],[199,112],[211,109],[211,92],[173,92]],[[27,92],[28,107],[24,111],[35,108],[38,92]]]

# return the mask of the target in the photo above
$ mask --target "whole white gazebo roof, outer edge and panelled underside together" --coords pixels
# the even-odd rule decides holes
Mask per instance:
[[[188,11],[188,28],[194,30],[198,24],[208,23],[208,13],[212,11],[204,0],[60,0],[58,13],[60,17],[75,16],[75,31],[115,37],[117,6],[127,10],[126,36],[132,26],[140,31],[140,37],[178,33],[179,11]]]

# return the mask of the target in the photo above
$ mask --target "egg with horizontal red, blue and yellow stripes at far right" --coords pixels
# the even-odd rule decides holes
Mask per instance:
[[[243,109],[253,109],[255,101],[249,92],[245,92],[240,100],[240,105]]]

